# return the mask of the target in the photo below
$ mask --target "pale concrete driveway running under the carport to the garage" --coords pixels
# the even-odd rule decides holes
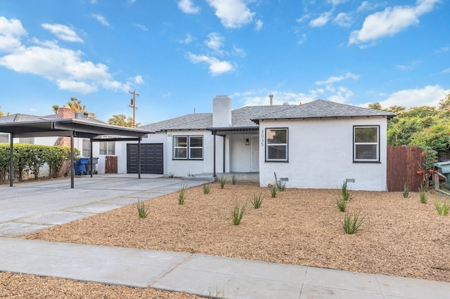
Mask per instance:
[[[180,185],[207,180],[181,180],[161,175],[90,175],[70,180],[25,182],[0,187],[0,236],[18,237],[55,225],[104,213],[137,201],[177,192]]]

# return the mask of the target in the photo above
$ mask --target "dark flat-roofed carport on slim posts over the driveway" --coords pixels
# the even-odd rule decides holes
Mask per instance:
[[[39,121],[17,121],[0,123],[0,132],[10,134],[9,150],[9,185],[13,187],[14,165],[13,165],[13,138],[30,137],[70,137],[70,187],[74,187],[74,154],[73,138],[89,138],[92,142],[101,141],[137,141],[138,161],[141,160],[141,140],[153,131],[146,131],[139,128],[127,128],[112,126],[93,121],[82,121],[80,119],[41,119]],[[91,151],[92,163],[92,151]],[[92,168],[92,164],[91,164]],[[92,173],[91,173],[92,177]],[[141,178],[141,166],[138,163],[138,178]]]

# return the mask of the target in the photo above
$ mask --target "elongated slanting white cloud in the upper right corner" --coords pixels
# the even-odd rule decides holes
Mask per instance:
[[[368,15],[363,27],[350,34],[349,44],[364,44],[392,36],[407,27],[417,24],[418,18],[432,11],[439,0],[417,0],[416,6],[387,7],[384,11]]]

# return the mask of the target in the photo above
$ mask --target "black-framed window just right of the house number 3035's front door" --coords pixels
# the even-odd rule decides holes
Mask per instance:
[[[287,128],[266,128],[266,161],[288,161]]]

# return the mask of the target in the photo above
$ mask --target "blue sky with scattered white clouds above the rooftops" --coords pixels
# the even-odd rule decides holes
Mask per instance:
[[[0,106],[153,123],[316,99],[436,106],[450,91],[450,1],[0,0]]]

